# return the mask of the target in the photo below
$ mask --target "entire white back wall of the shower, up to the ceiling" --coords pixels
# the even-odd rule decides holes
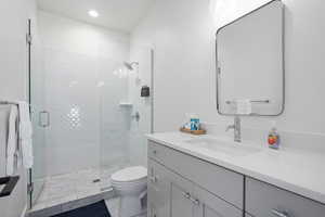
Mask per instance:
[[[127,78],[114,71],[129,59],[129,35],[39,13],[43,47],[48,175],[112,165],[127,156]],[[40,85],[40,84],[36,84]]]

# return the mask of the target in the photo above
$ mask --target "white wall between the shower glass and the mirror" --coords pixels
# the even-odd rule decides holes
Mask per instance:
[[[186,112],[217,120],[213,34],[207,0],[155,1],[132,33],[155,51],[155,131],[177,130]]]

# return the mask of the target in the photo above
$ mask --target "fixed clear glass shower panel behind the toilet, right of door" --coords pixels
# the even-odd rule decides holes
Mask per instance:
[[[152,87],[152,50],[135,49],[133,69],[100,60],[101,183],[110,187],[110,175],[128,166],[146,166],[145,133],[152,129],[152,97],[142,98],[142,86]]]

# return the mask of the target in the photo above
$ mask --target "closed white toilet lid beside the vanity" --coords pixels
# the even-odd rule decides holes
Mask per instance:
[[[147,170],[143,166],[134,166],[121,169],[112,175],[114,181],[138,181],[144,179],[147,176]]]

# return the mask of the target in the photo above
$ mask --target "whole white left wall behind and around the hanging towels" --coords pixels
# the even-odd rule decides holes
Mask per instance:
[[[36,3],[34,0],[11,0],[0,7],[0,99],[27,100],[27,20],[35,18]],[[0,116],[5,116],[5,108],[0,110]],[[4,115],[4,116],[3,116]],[[1,118],[1,135],[6,126]],[[0,141],[0,176],[4,176],[4,141]],[[20,168],[21,176],[13,194],[0,199],[0,213],[3,217],[18,217],[27,208],[27,176]]]

